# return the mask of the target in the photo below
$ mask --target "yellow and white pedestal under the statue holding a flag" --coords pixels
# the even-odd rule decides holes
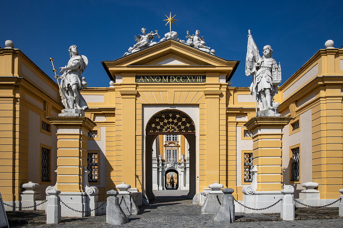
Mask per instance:
[[[283,189],[282,129],[292,117],[253,117],[244,126],[253,134],[253,166],[257,172],[251,194],[243,195],[244,205],[263,208],[281,199]],[[277,209],[279,208],[279,209]],[[271,213],[280,210],[277,204],[267,210],[245,213]]]

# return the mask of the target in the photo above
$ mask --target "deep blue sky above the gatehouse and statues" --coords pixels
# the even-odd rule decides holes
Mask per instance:
[[[13,40],[49,76],[69,60],[77,45],[89,64],[83,76],[89,87],[106,87],[109,78],[100,61],[120,58],[134,45],[142,27],[159,35],[169,31],[164,14],[176,15],[179,38],[201,31],[216,55],[241,61],[232,86],[249,86],[244,73],[247,32],[261,50],[271,45],[282,65],[283,82],[328,39],[343,46],[342,1],[0,1],[0,46]],[[186,39],[186,38],[184,38]]]

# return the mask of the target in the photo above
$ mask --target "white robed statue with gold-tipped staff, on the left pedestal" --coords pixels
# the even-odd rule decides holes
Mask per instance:
[[[81,74],[87,67],[88,59],[84,55],[79,55],[78,47],[76,45],[69,47],[69,54],[70,60],[68,61],[68,64],[59,67],[59,69],[61,69],[59,74],[62,75],[55,75],[57,80],[61,79],[61,84],[59,86],[63,105],[66,109],[86,111],[88,110],[88,105],[80,91],[87,88],[86,78],[81,77]],[[55,68],[54,71],[56,71]]]

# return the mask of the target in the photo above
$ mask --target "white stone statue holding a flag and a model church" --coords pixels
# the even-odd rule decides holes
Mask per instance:
[[[260,111],[257,116],[280,116],[277,111],[279,102],[273,102],[277,94],[277,85],[281,83],[281,65],[277,65],[272,57],[273,49],[270,45],[263,47],[263,56],[248,31],[248,46],[245,62],[245,75],[252,75],[250,85],[251,95],[258,101]]]

